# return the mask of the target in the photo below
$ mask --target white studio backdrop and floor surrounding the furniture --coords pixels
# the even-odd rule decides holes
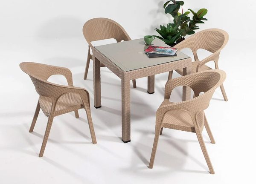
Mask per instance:
[[[1,0],[0,183],[252,183],[256,164],[252,106],[256,91],[256,1],[184,1],[184,10],[208,9],[208,21],[200,25],[201,30],[220,28],[230,35],[219,60],[220,68],[227,73],[224,86],[229,101],[224,102],[217,89],[206,110],[216,144],[209,144],[203,132],[215,175],[207,172],[196,136],[172,130],[165,130],[160,138],[154,169],[147,168],[155,112],[163,100],[167,73],[156,76],[154,95],[146,93],[146,78],[138,79],[137,88],[131,88],[129,144],[119,139],[120,80],[106,68],[102,68],[102,108],[92,108],[98,144],[90,143],[82,111],[79,119],[71,113],[54,119],[42,158],[38,158],[38,152],[47,122],[43,113],[39,114],[35,132],[28,132],[38,94],[19,63],[32,61],[69,68],[74,86],[90,92],[93,107],[92,63],[87,80],[83,80],[87,57],[84,23],[94,17],[107,17],[121,24],[131,39],[155,35],[155,27],[172,20],[164,14],[165,1]],[[65,84],[63,78],[52,81]],[[180,100],[179,94],[175,92],[175,100]]]

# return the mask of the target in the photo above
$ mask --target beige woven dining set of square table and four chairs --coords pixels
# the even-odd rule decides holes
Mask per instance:
[[[84,24],[83,34],[89,45],[84,79],[87,79],[90,60],[93,60],[93,103],[95,108],[102,107],[101,67],[107,67],[121,79],[122,141],[124,143],[131,141],[131,80],[133,87],[136,88],[136,79],[147,77],[147,91],[149,94],[153,94],[154,76],[169,72],[168,79],[166,78],[164,100],[156,112],[155,138],[149,168],[153,167],[157,143],[163,128],[169,128],[196,133],[209,171],[214,174],[201,132],[205,127],[211,143],[215,143],[204,110],[209,106],[209,101],[218,87],[221,89],[224,100],[227,101],[223,86],[226,74],[218,69],[220,52],[228,41],[227,32],[221,29],[203,30],[174,46],[178,49],[177,56],[160,58],[148,58],[144,53],[147,46],[144,44],[143,38],[131,40],[122,26],[107,18],[88,20]],[[114,38],[117,43],[101,46],[92,45],[93,41],[110,38]],[[154,39],[153,44],[156,46],[168,46],[158,38]],[[192,50],[195,61],[192,62],[192,58],[180,52],[184,48]],[[211,52],[211,55],[199,60],[198,49],[205,49]],[[215,69],[211,69],[206,65],[210,61],[215,63]],[[92,142],[93,144],[97,143],[93,128],[93,118],[91,117],[89,92],[84,88],[73,86],[72,73],[69,69],[32,62],[20,63],[20,68],[29,75],[35,85],[36,92],[39,94],[29,132],[33,132],[40,109],[48,117],[39,157],[44,155],[53,118],[72,111],[75,112],[76,118],[79,118],[78,109],[85,109]],[[182,76],[172,78],[174,70]],[[52,75],[64,75],[68,86],[47,81]],[[172,90],[177,86],[183,86],[183,101],[173,103],[169,99]],[[191,89],[194,92],[193,98],[190,95]]]

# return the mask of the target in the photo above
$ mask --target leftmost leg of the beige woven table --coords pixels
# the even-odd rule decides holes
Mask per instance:
[[[94,57],[93,59],[93,94],[94,107],[101,107],[101,86],[100,86],[100,61]]]

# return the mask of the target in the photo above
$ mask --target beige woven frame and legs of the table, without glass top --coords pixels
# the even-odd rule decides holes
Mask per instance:
[[[154,75],[169,72],[175,69],[183,69],[183,75],[191,74],[192,60],[186,58],[183,60],[172,61],[169,63],[158,64],[141,69],[131,71],[123,71],[116,66],[105,55],[96,48],[93,50],[93,93],[94,106],[99,108],[101,104],[101,79],[100,79],[100,63],[103,63],[117,77],[122,80],[122,141],[124,143],[131,141],[131,111],[130,111],[130,81],[133,79],[148,77],[148,93],[154,93]],[[183,101],[190,99],[190,88],[183,86]]]

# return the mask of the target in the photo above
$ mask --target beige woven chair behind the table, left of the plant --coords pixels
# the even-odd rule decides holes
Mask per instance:
[[[122,40],[131,40],[125,29],[123,29],[119,23],[108,18],[93,18],[88,20],[84,24],[83,34],[87,43],[89,44],[87,63],[84,71],[84,79],[87,78],[90,60],[94,59],[94,56],[90,54],[90,47],[93,47],[91,44],[92,41],[105,40],[110,38],[114,38],[117,42],[121,42]],[[101,63],[101,67],[104,66],[105,65]],[[132,84],[133,87],[136,88],[136,80],[132,80]]]

